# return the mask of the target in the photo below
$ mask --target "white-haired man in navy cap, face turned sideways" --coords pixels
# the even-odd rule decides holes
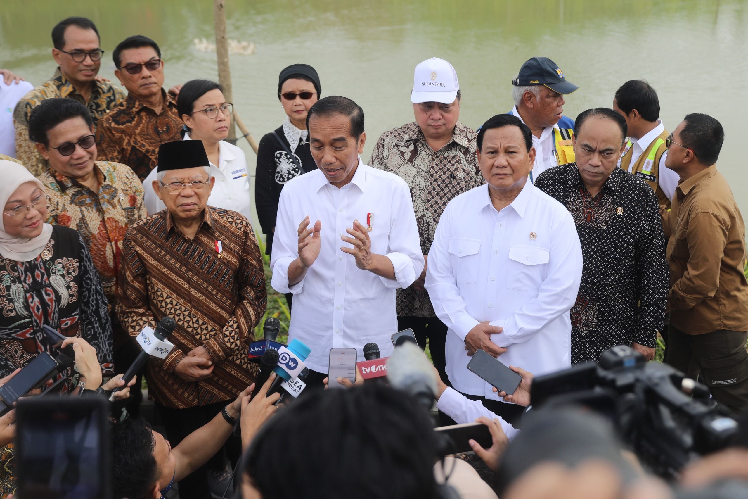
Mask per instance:
[[[567,82],[558,64],[547,57],[533,57],[522,64],[512,85],[515,106],[509,114],[519,117],[533,132],[536,156],[530,180],[534,183],[548,168],[574,162],[574,120],[562,111],[563,96],[579,87]]]

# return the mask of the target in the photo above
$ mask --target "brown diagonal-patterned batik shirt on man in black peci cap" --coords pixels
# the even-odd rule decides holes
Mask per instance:
[[[125,233],[120,283],[120,322],[131,336],[164,316],[177,321],[169,337],[174,349],[147,367],[156,402],[208,405],[233,399],[254,381],[258,364],[247,359],[248,343],[267,292],[260,248],[244,216],[208,206],[194,239],[172,224],[167,210],[137,222]],[[174,368],[198,346],[215,368],[207,379],[186,382]]]

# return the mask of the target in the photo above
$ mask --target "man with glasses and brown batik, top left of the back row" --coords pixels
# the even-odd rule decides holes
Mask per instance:
[[[88,108],[93,128],[111,108],[125,100],[125,94],[109,82],[97,82],[104,51],[99,47],[99,31],[91,19],[68,17],[52,29],[52,58],[58,64],[52,79],[34,88],[16,104],[16,157],[34,175],[49,166],[28,138],[31,111],[41,102],[55,97],[73,99]]]

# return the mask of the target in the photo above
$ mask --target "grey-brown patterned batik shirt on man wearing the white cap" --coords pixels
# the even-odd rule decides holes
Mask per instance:
[[[429,254],[444,207],[457,195],[484,183],[478,168],[477,134],[457,123],[452,139],[434,152],[417,123],[384,132],[370,165],[390,171],[411,189],[423,254]],[[414,287],[397,290],[398,316],[435,316],[429,293]]]

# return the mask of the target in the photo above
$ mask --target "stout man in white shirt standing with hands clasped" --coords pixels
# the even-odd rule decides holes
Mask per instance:
[[[530,128],[497,114],[478,132],[487,185],[447,204],[426,269],[426,290],[447,333],[447,375],[457,391],[515,424],[524,410],[500,402],[467,369],[478,349],[536,375],[571,365],[571,321],[582,250],[568,210],[528,182]]]

